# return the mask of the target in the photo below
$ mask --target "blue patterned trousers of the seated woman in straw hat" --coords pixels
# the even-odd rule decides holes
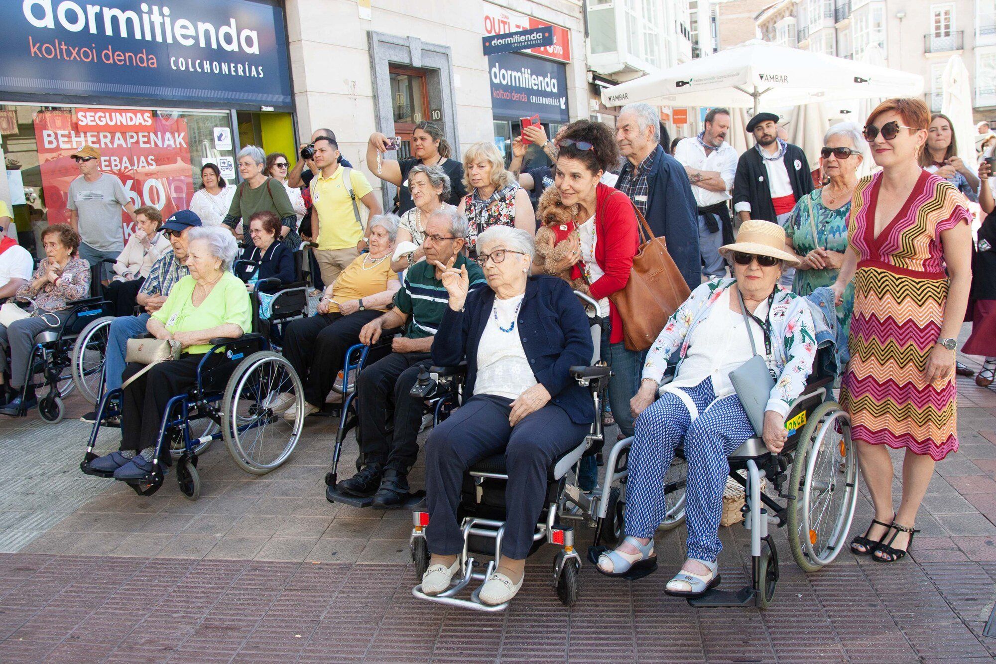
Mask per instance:
[[[688,557],[713,562],[723,548],[718,530],[730,472],[726,459],[754,436],[754,428],[735,394],[716,399],[711,378],[678,389],[693,409],[678,395],[664,393],[636,419],[629,449],[625,533],[653,537],[666,511],[664,474],[683,438],[688,463]]]

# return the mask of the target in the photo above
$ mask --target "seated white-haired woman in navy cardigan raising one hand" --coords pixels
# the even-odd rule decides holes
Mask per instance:
[[[595,409],[570,368],[589,364],[588,318],[571,287],[545,275],[530,277],[535,247],[520,229],[495,226],[481,233],[477,261],[490,288],[469,296],[466,267],[443,266],[449,307],[432,345],[437,365],[466,360],[457,411],[432,431],[425,446],[429,566],[421,590],[445,591],[460,567],[464,536],[457,515],[465,472],[504,453],[507,519],[501,556],[479,590],[497,605],[522,586],[547,494],[549,467],[577,448]]]

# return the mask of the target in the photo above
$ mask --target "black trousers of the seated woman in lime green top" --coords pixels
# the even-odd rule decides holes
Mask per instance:
[[[159,362],[124,388],[122,395],[122,450],[140,452],[155,447],[159,425],[166,404],[176,395],[189,390],[197,381],[197,365],[203,355],[183,355],[178,360]],[[206,368],[229,365],[230,374],[236,363],[215,354]],[[122,381],[136,374],[144,365],[130,362],[124,367]],[[214,381],[217,385],[220,376]],[[167,458],[168,460],[168,458]]]

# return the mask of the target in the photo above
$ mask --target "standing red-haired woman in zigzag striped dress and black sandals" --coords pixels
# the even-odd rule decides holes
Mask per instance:
[[[875,511],[851,548],[885,562],[909,550],[934,463],[958,449],[954,348],[971,283],[971,213],[951,183],[917,164],[929,122],[918,99],[887,100],[871,113],[865,138],[882,170],[855,189],[833,286],[840,298],[855,281],[841,403]],[[905,450],[894,511],[885,446]]]

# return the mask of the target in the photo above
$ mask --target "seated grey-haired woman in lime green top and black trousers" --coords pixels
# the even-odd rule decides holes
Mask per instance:
[[[230,272],[238,253],[235,238],[217,227],[191,228],[186,265],[146,329],[156,339],[175,342],[179,358],[150,365],[129,363],[124,369],[122,445],[120,452],[94,459],[90,469],[114,473],[116,480],[141,480],[152,471],[160,423],[173,397],[192,387],[201,374],[201,360],[215,340],[238,339],[252,327],[245,284]],[[209,369],[235,362],[213,353]]]

